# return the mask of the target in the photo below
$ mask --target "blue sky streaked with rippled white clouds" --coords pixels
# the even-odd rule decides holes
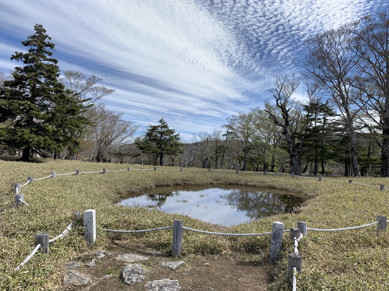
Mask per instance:
[[[261,107],[275,75],[301,71],[293,61],[309,37],[386,9],[388,0],[3,0],[0,71],[21,65],[10,57],[41,24],[61,71],[115,90],[100,100],[108,109],[143,132],[163,117],[190,141]]]

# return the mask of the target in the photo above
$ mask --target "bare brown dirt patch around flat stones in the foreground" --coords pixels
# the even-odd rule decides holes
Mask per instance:
[[[148,257],[148,260],[138,261],[146,270],[143,282],[128,285],[122,281],[121,271],[127,263],[117,260],[121,254],[136,254]],[[95,267],[88,267],[85,263],[96,259]],[[163,262],[183,260],[184,265],[175,271],[162,267]],[[217,256],[184,256],[173,258],[169,254],[150,255],[144,249],[136,246],[115,243],[106,249],[106,256],[97,259],[94,253],[77,258],[82,262],[77,271],[88,275],[92,282],[88,286],[63,286],[65,291],[120,291],[143,290],[147,281],[170,278],[178,280],[183,291],[258,291],[265,290],[271,283],[273,276],[272,265],[266,261],[264,255],[217,255]],[[106,275],[112,275],[102,279]]]

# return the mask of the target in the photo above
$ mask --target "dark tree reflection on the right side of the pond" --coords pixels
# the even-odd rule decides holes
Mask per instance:
[[[238,211],[246,211],[250,219],[263,218],[277,213],[292,213],[303,200],[288,194],[276,194],[267,191],[234,189],[220,196],[228,201],[228,205]]]

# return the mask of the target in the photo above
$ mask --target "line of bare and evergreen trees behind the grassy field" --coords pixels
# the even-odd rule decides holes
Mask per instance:
[[[361,17],[305,42],[300,75],[274,76],[263,108],[239,113],[183,142],[163,118],[143,137],[99,99],[114,92],[75,71],[59,78],[41,25],[22,42],[12,76],[0,74],[0,144],[98,162],[389,176],[389,11]],[[296,98],[304,90],[304,100]],[[113,126],[114,125],[114,126]]]

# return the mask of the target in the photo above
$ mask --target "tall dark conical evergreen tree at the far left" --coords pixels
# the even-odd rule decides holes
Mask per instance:
[[[0,89],[0,142],[23,149],[20,160],[28,161],[32,150],[58,152],[65,146],[76,147],[73,132],[85,119],[82,106],[58,81],[58,61],[52,58],[54,44],[42,25],[34,26],[35,34],[21,44],[28,52],[15,52],[13,80],[4,81]]]

